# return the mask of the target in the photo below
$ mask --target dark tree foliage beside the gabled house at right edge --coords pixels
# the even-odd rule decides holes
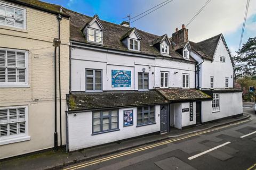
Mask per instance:
[[[249,38],[237,56],[233,57],[235,62],[236,78],[255,77],[256,75],[256,37]]]

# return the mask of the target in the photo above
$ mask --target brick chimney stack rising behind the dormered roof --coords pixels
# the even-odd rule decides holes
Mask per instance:
[[[175,32],[172,34],[172,41],[175,44],[185,43],[188,41],[188,29],[185,28],[185,24],[182,24],[180,30],[176,28]]]

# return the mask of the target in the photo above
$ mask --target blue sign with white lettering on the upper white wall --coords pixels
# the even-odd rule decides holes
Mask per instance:
[[[112,70],[112,87],[131,87],[131,71]]]

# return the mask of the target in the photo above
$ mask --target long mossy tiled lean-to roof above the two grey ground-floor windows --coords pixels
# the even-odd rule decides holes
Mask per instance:
[[[115,107],[153,105],[168,101],[157,91],[109,91],[67,95],[68,111],[86,111]]]

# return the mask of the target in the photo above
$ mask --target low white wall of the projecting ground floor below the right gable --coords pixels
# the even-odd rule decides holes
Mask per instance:
[[[242,92],[220,93],[219,97],[219,112],[212,112],[212,101],[202,101],[202,122],[243,113]]]

